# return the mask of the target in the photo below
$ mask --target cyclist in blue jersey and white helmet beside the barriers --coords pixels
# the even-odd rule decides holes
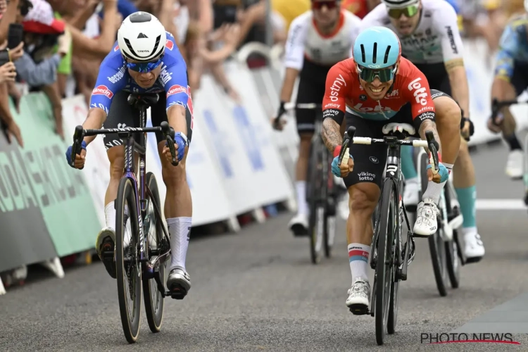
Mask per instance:
[[[139,127],[139,110],[127,103],[130,93],[159,94],[156,105],[151,106],[152,125],[168,121],[174,128],[177,167],[170,163],[171,156],[163,134],[156,133],[161,158],[163,182],[167,187],[165,218],[170,232],[172,260],[167,287],[175,296],[184,298],[191,288],[185,269],[185,259],[191,231],[192,201],[187,184],[185,161],[192,134],[192,101],[187,85],[187,66],[178,50],[174,37],[160,21],[146,12],[136,12],[125,18],[118,31],[113,51],[101,63],[84,129]],[[137,136],[139,139],[139,135]],[[83,168],[87,145],[95,137],[85,137],[80,155],[75,156],[75,168]],[[99,232],[96,251],[106,271],[116,277],[115,262],[106,260],[101,252],[115,248],[115,209],[118,186],[125,166],[122,140],[117,134],[103,136],[110,161],[110,184],[105,197],[106,227]],[[66,157],[70,161],[72,147]]]

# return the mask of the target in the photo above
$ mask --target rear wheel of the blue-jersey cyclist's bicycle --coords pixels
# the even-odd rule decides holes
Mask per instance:
[[[144,235],[148,242],[146,249],[149,255],[147,258],[150,260],[152,256],[158,256],[159,251],[163,247],[163,242],[166,240],[163,237],[163,220],[158,218],[154,211],[154,204],[160,211],[161,207],[158,182],[156,182],[156,177],[154,177],[152,172],[146,174],[146,187],[150,189],[152,194],[152,196],[146,194],[149,208],[146,210],[146,215],[143,219]],[[161,282],[165,283],[165,262],[159,265],[159,276]],[[158,290],[156,279],[143,279],[143,297],[146,321],[149,322],[149,328],[151,332],[159,332],[163,321],[163,295]]]

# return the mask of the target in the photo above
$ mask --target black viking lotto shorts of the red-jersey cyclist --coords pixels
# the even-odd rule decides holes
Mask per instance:
[[[439,96],[448,96],[448,94],[432,89],[431,96],[432,99],[436,99]],[[451,98],[451,96],[448,97]],[[413,127],[415,126],[410,103],[406,103],[406,105],[402,106],[400,111],[389,120],[367,120],[348,112],[345,113],[345,119],[347,129],[349,126],[356,127],[356,133],[354,134],[356,137],[382,139],[384,137],[382,132],[383,126],[392,122],[408,123]],[[416,134],[413,137],[420,138],[418,130],[416,130]],[[349,151],[354,158],[354,169],[348,174],[348,176],[344,177],[346,188],[348,189],[348,187],[360,182],[372,182],[381,188],[387,148],[388,147],[385,144],[351,144],[349,146]]]

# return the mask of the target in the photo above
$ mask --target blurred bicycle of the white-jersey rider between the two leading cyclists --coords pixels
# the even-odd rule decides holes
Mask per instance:
[[[322,141],[322,105],[320,103],[287,103],[287,111],[294,108],[315,110],[315,132],[310,144],[310,158],[306,177],[306,200],[310,217],[308,233],[301,229],[293,229],[296,236],[310,236],[310,258],[313,264],[318,264],[325,256],[332,256],[336,231],[337,186],[332,175],[332,156],[325,142]],[[279,117],[275,123],[279,122]]]

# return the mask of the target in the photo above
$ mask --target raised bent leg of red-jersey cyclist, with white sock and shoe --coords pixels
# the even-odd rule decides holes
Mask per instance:
[[[450,96],[437,91],[432,91],[432,94],[436,96],[434,98],[436,130],[440,139],[442,164],[448,169],[448,172],[451,172],[458,156],[458,149],[460,149],[460,137],[458,136],[460,136],[462,113],[458,104]],[[425,128],[423,126],[422,124],[420,130]],[[438,227],[436,222],[438,208],[436,205],[439,202],[445,184],[446,182],[436,183],[433,181],[427,183],[427,189],[422,195],[422,201],[418,204],[416,210],[417,215],[413,229],[415,234],[429,236],[436,232]]]

